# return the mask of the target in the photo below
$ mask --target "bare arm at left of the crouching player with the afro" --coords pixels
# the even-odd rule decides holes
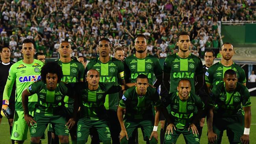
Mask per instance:
[[[31,116],[28,113],[28,96],[31,96],[32,94],[30,94],[30,92],[28,92],[27,89],[25,89],[22,92],[22,107],[23,107],[23,111],[24,111],[24,119],[26,121],[26,123],[28,124],[28,126],[33,126],[36,122],[33,119],[33,116]]]

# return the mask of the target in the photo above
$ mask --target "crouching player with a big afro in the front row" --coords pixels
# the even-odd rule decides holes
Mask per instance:
[[[69,129],[75,124],[76,113],[67,122],[63,111],[63,100],[64,96],[74,94],[60,81],[62,76],[61,67],[57,63],[46,63],[41,69],[41,80],[36,81],[22,92],[24,119],[29,126],[32,126],[30,129],[31,144],[39,144],[49,123],[55,129],[61,144],[69,144]],[[38,96],[34,119],[28,114],[28,96],[32,94]]]

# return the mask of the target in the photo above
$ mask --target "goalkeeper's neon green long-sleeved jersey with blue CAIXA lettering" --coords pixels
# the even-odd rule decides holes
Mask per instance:
[[[16,81],[16,92],[15,92],[15,110],[23,111],[21,94],[33,82],[40,80],[40,71],[43,62],[34,59],[33,63],[26,64],[23,60],[13,64],[9,70],[9,76],[4,87],[3,100],[9,100],[13,83]],[[28,98],[28,111],[33,111],[37,102],[37,95],[33,94]]]

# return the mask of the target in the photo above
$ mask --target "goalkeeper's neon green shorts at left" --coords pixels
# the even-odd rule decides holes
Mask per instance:
[[[34,111],[29,111],[30,115],[34,115]],[[15,111],[13,119],[13,129],[11,131],[12,140],[26,140],[28,135],[28,128],[23,111]]]

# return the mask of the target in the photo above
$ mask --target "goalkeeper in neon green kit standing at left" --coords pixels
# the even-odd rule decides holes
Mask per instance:
[[[30,39],[25,39],[22,42],[23,59],[13,64],[9,70],[9,76],[4,87],[2,110],[6,110],[9,105],[9,98],[13,89],[13,83],[16,80],[16,95],[15,95],[15,114],[13,121],[13,129],[11,139],[15,143],[22,144],[27,139],[28,125],[24,120],[24,112],[21,103],[21,94],[26,87],[33,82],[40,80],[40,70],[43,63],[34,59],[35,47]],[[33,116],[35,104],[37,103],[37,95],[34,94],[28,98],[28,112]]]

